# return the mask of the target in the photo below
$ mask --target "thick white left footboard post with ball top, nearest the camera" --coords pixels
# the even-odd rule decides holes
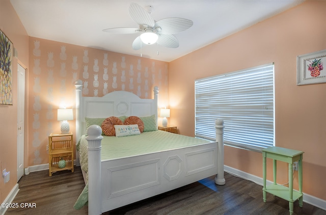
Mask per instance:
[[[87,129],[88,142],[88,214],[102,214],[101,136],[102,129],[91,125]]]

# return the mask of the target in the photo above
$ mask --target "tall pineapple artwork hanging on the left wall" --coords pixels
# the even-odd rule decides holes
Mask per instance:
[[[13,45],[0,30],[0,105],[12,105]]]

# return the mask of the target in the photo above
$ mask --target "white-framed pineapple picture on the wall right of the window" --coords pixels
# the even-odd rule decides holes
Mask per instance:
[[[326,83],[326,49],[298,56],[296,85]]]

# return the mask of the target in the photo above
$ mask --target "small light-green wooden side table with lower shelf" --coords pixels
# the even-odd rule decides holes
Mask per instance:
[[[289,201],[290,214],[293,214],[293,202],[299,200],[299,206],[303,206],[302,194],[302,158],[303,151],[286,149],[281,147],[269,147],[262,149],[263,154],[263,200],[266,202],[266,192]],[[266,157],[273,159],[274,183],[266,186]],[[289,164],[289,187],[276,183],[276,160]],[[293,191],[293,163],[298,162],[299,191]]]

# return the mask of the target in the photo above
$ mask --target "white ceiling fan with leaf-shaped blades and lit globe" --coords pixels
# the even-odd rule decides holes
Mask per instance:
[[[116,34],[137,34],[141,33],[133,42],[132,48],[139,50],[144,44],[157,44],[168,47],[179,47],[179,41],[174,36],[179,32],[185,31],[193,25],[193,21],[184,18],[165,18],[155,21],[150,13],[152,6],[147,6],[145,10],[140,5],[131,3],[129,15],[139,24],[139,28],[111,28],[104,29],[103,32]]]

